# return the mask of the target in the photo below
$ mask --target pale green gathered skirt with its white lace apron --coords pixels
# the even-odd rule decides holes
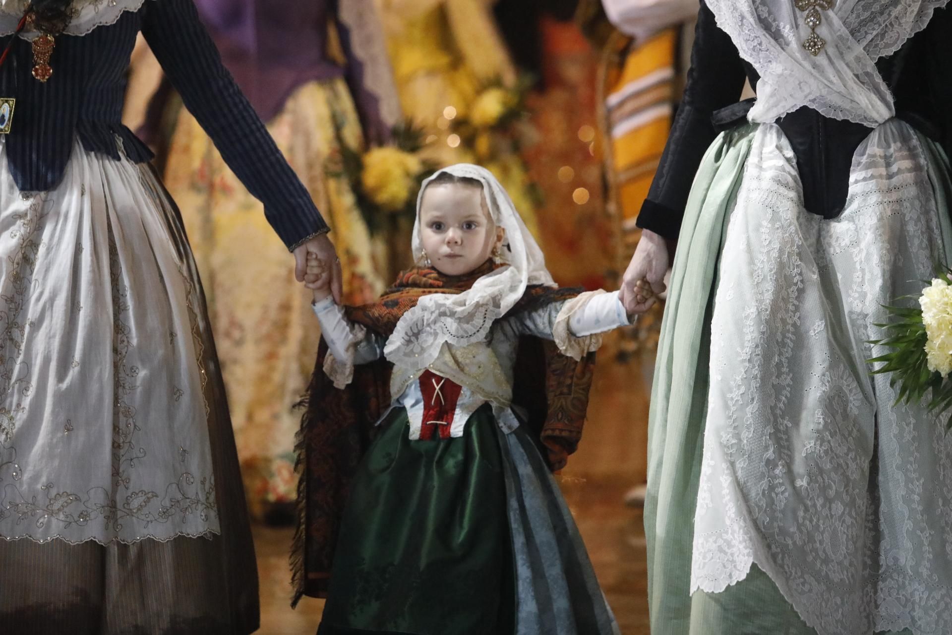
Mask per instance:
[[[942,149],[887,121],[826,220],[803,208],[779,127],[708,149],[652,389],[652,633],[952,629],[952,437],[866,361],[883,305],[949,263],[949,174]]]

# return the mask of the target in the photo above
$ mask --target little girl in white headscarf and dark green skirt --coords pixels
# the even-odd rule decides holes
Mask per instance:
[[[298,597],[327,597],[322,635],[617,633],[549,471],[581,436],[599,333],[628,324],[618,294],[556,288],[471,165],[424,184],[413,255],[359,308],[308,264],[327,346],[300,439]]]

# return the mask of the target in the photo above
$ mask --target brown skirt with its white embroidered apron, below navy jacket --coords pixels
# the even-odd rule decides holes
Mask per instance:
[[[21,192],[0,141],[5,635],[243,635],[254,549],[205,299],[146,164],[77,141]]]

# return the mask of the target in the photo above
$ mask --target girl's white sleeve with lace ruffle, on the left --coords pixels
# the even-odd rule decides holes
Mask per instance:
[[[324,371],[335,387],[343,388],[350,383],[354,366],[383,356],[385,343],[382,338],[350,322],[344,308],[339,307],[332,297],[313,303],[311,308],[321,323],[321,334],[327,342]]]

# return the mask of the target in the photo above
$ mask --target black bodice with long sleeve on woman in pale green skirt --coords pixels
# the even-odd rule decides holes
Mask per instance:
[[[936,10],[929,25],[902,49],[877,64],[895,97],[897,117],[952,150],[952,10]],[[757,72],[720,30],[702,2],[684,101],[675,117],[661,165],[638,218],[638,226],[675,240],[684,206],[704,151],[720,130],[746,120],[752,106],[737,103]],[[801,108],[778,125],[797,157],[804,207],[824,218],[843,210],[853,154],[871,129]]]

